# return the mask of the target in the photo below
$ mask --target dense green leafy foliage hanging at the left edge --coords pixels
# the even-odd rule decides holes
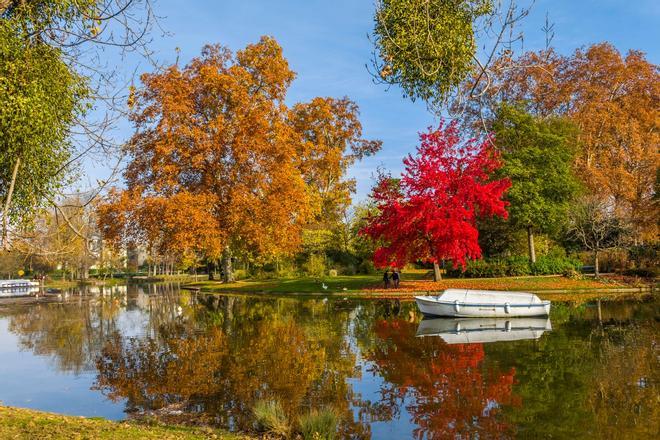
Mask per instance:
[[[84,112],[85,80],[61,52],[0,18],[0,200],[2,243],[66,178],[69,130]]]

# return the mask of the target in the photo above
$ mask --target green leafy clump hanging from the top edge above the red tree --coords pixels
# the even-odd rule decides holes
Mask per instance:
[[[490,0],[382,0],[374,42],[380,78],[412,99],[443,103],[475,67],[474,21]]]

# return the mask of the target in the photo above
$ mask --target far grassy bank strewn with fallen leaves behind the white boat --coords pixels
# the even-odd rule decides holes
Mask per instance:
[[[271,280],[244,280],[223,284],[219,281],[190,283],[205,292],[252,294],[324,294],[346,296],[410,296],[418,292],[434,292],[449,288],[517,290],[535,293],[588,292],[595,290],[630,289],[622,280],[571,279],[562,276],[528,276],[503,278],[447,278],[439,282],[427,279],[424,271],[404,272],[398,289],[383,289],[381,275],[353,275],[323,279],[299,277]],[[324,287],[325,286],[325,287]]]

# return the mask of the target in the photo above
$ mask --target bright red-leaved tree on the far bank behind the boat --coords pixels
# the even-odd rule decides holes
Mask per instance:
[[[452,261],[465,267],[481,257],[476,220],[506,218],[502,200],[508,179],[493,179],[502,165],[492,139],[462,141],[458,125],[441,122],[420,133],[417,155],[403,161],[401,179],[381,175],[372,191],[377,212],[362,233],[384,243],[374,254],[378,267],[402,267],[411,261]]]

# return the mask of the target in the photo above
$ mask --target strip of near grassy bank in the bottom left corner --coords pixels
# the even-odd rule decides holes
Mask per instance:
[[[104,419],[62,416],[30,409],[0,406],[3,439],[247,439],[209,428],[146,426]]]

